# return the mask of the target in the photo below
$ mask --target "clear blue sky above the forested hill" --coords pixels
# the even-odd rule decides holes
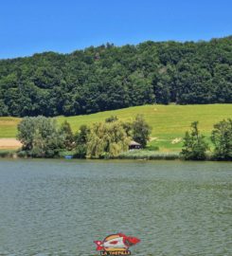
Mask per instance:
[[[0,59],[232,34],[231,0],[0,0]]]

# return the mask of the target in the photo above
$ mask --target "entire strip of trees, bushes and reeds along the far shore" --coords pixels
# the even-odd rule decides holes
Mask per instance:
[[[70,124],[39,116],[24,118],[18,125],[17,138],[22,143],[18,151],[0,150],[0,157],[83,158],[83,159],[138,159],[138,160],[232,160],[232,119],[216,123],[211,132],[210,148],[198,129],[198,121],[190,125],[183,137],[179,152],[160,152],[149,147],[152,128],[142,115],[134,121],[122,122],[116,117],[96,122],[92,126],[81,125],[73,134]],[[141,149],[129,149],[135,140]]]

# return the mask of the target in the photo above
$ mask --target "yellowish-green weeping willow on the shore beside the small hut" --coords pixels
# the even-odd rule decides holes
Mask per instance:
[[[119,121],[95,123],[87,142],[87,157],[116,156],[127,151],[130,139]]]

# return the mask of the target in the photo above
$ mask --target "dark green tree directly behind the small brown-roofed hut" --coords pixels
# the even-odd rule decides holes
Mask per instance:
[[[137,115],[132,126],[133,139],[145,148],[152,133],[152,127],[144,119],[143,115]]]

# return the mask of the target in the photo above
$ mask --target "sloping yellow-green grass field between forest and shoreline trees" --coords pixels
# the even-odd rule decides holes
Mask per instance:
[[[182,142],[179,138],[185,135],[192,121],[199,121],[200,130],[208,138],[214,123],[222,119],[232,119],[232,104],[144,105],[85,116],[57,117],[56,119],[59,124],[66,119],[76,132],[81,124],[91,125],[112,115],[121,120],[133,120],[137,114],[143,114],[152,126],[150,145],[158,146],[163,152],[180,151]],[[19,121],[20,119],[0,118],[0,137],[15,137]]]

